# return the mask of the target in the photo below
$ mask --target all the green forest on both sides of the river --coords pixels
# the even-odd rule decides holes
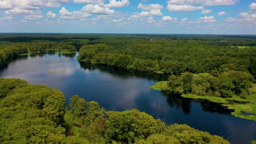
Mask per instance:
[[[1,34],[0,68],[44,51],[79,51],[79,62],[169,75],[153,88],[256,121],[253,35]],[[107,111],[78,95],[66,106],[56,88],[20,79],[0,78],[0,103],[0,143],[229,143],[135,109]]]

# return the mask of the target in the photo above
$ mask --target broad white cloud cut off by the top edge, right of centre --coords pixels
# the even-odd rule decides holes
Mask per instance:
[[[239,0],[169,0],[168,4],[190,4],[190,5],[234,5],[238,3]]]

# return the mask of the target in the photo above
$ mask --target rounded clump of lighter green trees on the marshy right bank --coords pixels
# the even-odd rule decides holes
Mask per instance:
[[[201,96],[213,96],[231,98],[238,95],[246,98],[253,93],[251,87],[255,82],[253,76],[244,71],[228,71],[219,73],[213,71],[211,74],[184,73],[179,76],[171,75],[167,86],[163,89],[176,94],[195,94]]]

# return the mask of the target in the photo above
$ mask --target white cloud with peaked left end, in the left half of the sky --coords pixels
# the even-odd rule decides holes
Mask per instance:
[[[83,13],[82,11],[73,11],[69,12],[65,7],[62,7],[60,10],[60,18],[61,19],[82,19],[89,17],[90,14]]]

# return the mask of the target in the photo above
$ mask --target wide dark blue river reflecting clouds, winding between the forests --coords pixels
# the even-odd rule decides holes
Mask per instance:
[[[39,53],[19,57],[0,69],[0,77],[19,78],[35,85],[56,87],[65,94],[66,103],[74,94],[86,101],[97,101],[106,110],[138,109],[166,124],[188,124],[193,128],[223,136],[231,143],[256,140],[256,122],[230,115],[230,111],[207,101],[174,97],[150,89],[166,76],[83,64],[78,53]]]

